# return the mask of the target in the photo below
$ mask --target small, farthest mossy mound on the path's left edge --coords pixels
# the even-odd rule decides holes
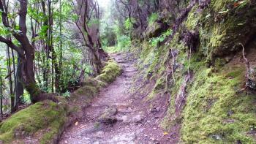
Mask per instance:
[[[107,66],[102,70],[102,73],[95,79],[109,84],[116,80],[118,75],[121,75],[121,71],[122,69],[116,61],[110,60],[108,61]]]

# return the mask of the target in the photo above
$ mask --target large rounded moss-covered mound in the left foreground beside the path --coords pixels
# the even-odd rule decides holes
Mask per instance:
[[[42,143],[49,143],[58,136],[59,129],[66,121],[66,111],[54,102],[38,102],[24,110],[20,110],[0,124],[0,140],[11,143],[28,135],[40,131],[49,131],[42,134]]]

